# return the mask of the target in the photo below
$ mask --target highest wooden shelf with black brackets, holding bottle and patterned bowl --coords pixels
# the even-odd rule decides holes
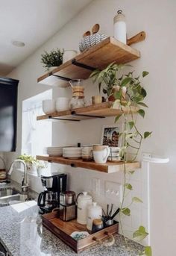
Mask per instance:
[[[51,86],[68,87],[70,79],[87,79],[94,69],[104,69],[113,61],[116,63],[128,63],[139,57],[140,52],[136,49],[119,42],[113,37],[108,37],[98,45],[78,54],[74,59],[75,61],[69,60],[51,72],[45,73],[45,75],[37,79],[37,82]],[[85,68],[85,66],[77,66],[80,63],[90,67],[90,69]],[[57,76],[63,79],[58,79]]]

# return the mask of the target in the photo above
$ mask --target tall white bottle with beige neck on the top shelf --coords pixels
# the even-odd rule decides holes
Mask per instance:
[[[122,10],[118,10],[116,16],[113,18],[113,37],[122,43],[127,43],[127,26]]]

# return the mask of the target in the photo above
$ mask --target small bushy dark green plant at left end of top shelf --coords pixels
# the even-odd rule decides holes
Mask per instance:
[[[58,48],[50,52],[44,51],[41,56],[41,63],[44,64],[43,67],[45,67],[46,71],[63,63],[63,50]]]

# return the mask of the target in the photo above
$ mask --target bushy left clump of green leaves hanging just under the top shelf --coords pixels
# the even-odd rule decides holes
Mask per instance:
[[[110,63],[110,65],[108,65],[106,69],[95,69],[90,75],[90,78],[92,78],[94,83],[98,82],[100,92],[101,85],[103,84],[103,93],[107,94],[107,99],[110,102],[115,101],[113,94],[115,92],[119,92],[119,90],[122,90],[122,96],[125,99],[126,87],[122,79],[124,76],[121,78],[117,78],[119,70],[122,69],[124,66],[127,65],[118,65],[116,63]]]

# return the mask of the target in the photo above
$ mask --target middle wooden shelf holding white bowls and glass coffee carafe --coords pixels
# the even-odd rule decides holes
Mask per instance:
[[[75,114],[72,114],[72,110],[65,110],[60,112],[54,112],[50,115],[37,116],[37,120],[45,120],[45,119],[54,119],[61,118],[66,120],[84,120],[84,119],[92,119],[95,117],[106,117],[106,116],[118,116],[122,113],[122,110],[119,108],[113,108],[113,102],[103,102],[100,104],[90,105],[87,107],[76,108]],[[138,109],[137,107],[124,107],[126,113],[132,111],[135,113]],[[76,116],[76,115],[83,116]]]

